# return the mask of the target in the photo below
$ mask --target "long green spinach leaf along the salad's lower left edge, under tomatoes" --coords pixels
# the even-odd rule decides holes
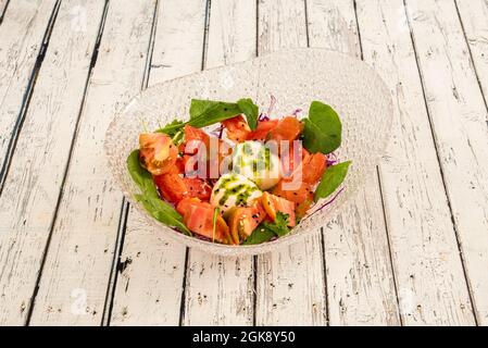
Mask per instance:
[[[134,150],[127,158],[127,170],[133,181],[139,186],[141,194],[135,198],[145,207],[148,213],[155,220],[177,227],[191,236],[191,232],[183,223],[182,215],[167,202],[160,199],[152,175],[146,171],[139,162],[139,150]]]

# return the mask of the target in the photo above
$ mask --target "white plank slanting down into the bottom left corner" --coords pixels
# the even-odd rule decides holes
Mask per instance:
[[[84,28],[73,26],[71,16],[73,8],[80,4]],[[0,198],[3,324],[23,323],[29,310],[102,12],[103,3],[93,0],[61,5],[54,36],[37,78]]]

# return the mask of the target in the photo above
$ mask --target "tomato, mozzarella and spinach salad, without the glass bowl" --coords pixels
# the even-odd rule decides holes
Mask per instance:
[[[145,129],[127,158],[135,199],[159,222],[214,244],[289,234],[340,194],[351,162],[334,153],[342,125],[330,105],[312,101],[306,116],[272,120],[273,103],[260,113],[250,98],[192,99],[188,121]]]

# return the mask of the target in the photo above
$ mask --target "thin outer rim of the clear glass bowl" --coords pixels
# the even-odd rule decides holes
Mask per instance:
[[[290,233],[287,234],[286,236],[276,238],[274,240],[270,240],[266,243],[262,243],[262,244],[258,244],[258,245],[238,245],[238,246],[230,246],[230,245],[223,245],[223,244],[218,244],[218,243],[212,243],[209,240],[204,240],[204,239],[200,239],[198,237],[195,236],[187,236],[184,233],[180,233],[167,225],[165,225],[164,223],[155,220],[154,217],[150,216],[145,209],[141,208],[141,206],[139,203],[137,203],[137,201],[134,199],[134,194],[132,192],[127,192],[124,187],[122,187],[122,185],[120,184],[117,177],[115,176],[114,171],[112,170],[112,162],[110,159],[110,150],[109,150],[109,137],[108,134],[110,133],[110,130],[115,127],[117,121],[120,120],[121,115],[123,115],[134,103],[136,103],[139,99],[142,98],[142,95],[146,94],[148,90],[151,89],[155,89],[161,85],[174,82],[174,80],[179,80],[179,79],[185,79],[188,78],[189,76],[192,75],[197,75],[197,74],[201,74],[203,72],[211,72],[211,71],[217,71],[217,70],[222,70],[222,69],[232,69],[238,65],[241,65],[243,63],[253,61],[253,60],[260,60],[263,59],[265,57],[268,55],[274,55],[274,54],[283,54],[283,53],[291,53],[291,52],[321,52],[323,54],[330,54],[330,55],[338,55],[345,60],[350,60],[351,62],[354,62],[355,64],[360,64],[362,65],[363,69],[365,69],[366,71],[368,71],[372,76],[374,76],[377,82],[378,82],[378,86],[381,90],[381,94],[384,96],[388,97],[388,121],[387,121],[387,130],[388,134],[385,136],[385,138],[383,139],[383,144],[379,146],[379,151],[377,153],[377,156],[372,158],[372,165],[371,167],[364,172],[364,174],[362,175],[362,178],[360,179],[360,185],[358,185],[355,188],[349,188],[348,189],[348,195],[350,195],[350,198],[345,201],[342,203],[341,210],[343,210],[343,208],[346,208],[348,204],[351,203],[351,201],[353,200],[353,198],[355,198],[355,196],[358,195],[360,188],[364,185],[364,178],[367,177],[368,175],[371,175],[373,172],[375,172],[375,169],[377,167],[377,165],[379,164],[379,159],[381,158],[383,153],[386,150],[386,147],[390,140],[390,135],[391,135],[391,127],[392,127],[392,120],[393,120],[393,100],[392,100],[392,94],[390,91],[390,89],[388,88],[387,84],[385,83],[385,80],[381,78],[381,76],[376,72],[376,70],[371,66],[370,64],[367,64],[365,61],[351,55],[351,54],[347,54],[340,51],[335,51],[335,50],[329,50],[329,49],[325,49],[325,48],[293,48],[293,49],[280,49],[280,50],[276,50],[270,53],[264,53],[264,54],[260,54],[259,57],[254,57],[252,59],[249,60],[245,60],[245,61],[239,61],[239,62],[235,62],[232,64],[223,64],[223,65],[218,65],[218,66],[214,66],[211,69],[205,69],[203,71],[199,71],[199,72],[195,72],[195,73],[190,73],[190,74],[185,74],[183,76],[178,76],[175,78],[171,78],[171,79],[166,79],[163,82],[160,82],[158,84],[154,84],[148,88],[145,88],[143,90],[139,91],[136,96],[134,96],[133,98],[130,98],[124,105],[122,105],[121,108],[118,108],[118,110],[114,113],[112,121],[110,122],[107,130],[105,130],[105,138],[103,141],[103,152],[104,152],[104,157],[107,160],[107,163],[109,163],[109,167],[110,167],[110,174],[112,175],[112,177],[115,179],[115,182],[117,183],[116,185],[120,187],[120,189],[122,189],[122,192],[124,194],[124,198],[128,200],[128,202],[130,203],[130,206],[133,208],[135,208],[137,211],[139,211],[143,216],[145,220],[152,225],[157,225],[158,227],[162,227],[163,231],[170,231],[171,233],[166,233],[164,235],[158,235],[158,238],[165,238],[165,237],[170,237],[173,240],[177,240],[178,243],[183,243],[186,247],[196,247],[200,250],[203,250],[205,252],[209,253],[213,253],[213,254],[221,254],[221,256],[250,256],[250,254],[262,254],[265,252],[270,252],[273,251],[273,249],[276,249],[278,247],[285,247],[285,246],[289,246],[292,243],[296,243],[297,240],[299,240],[300,238],[305,237],[306,235],[310,235],[310,233],[312,232],[316,232],[312,228],[308,229],[308,231],[303,231],[302,233],[293,233],[293,229],[299,226],[297,225],[296,227],[290,229]],[[352,166],[353,167],[353,164]],[[333,212],[329,215],[329,220],[333,220],[335,217],[335,215],[337,215],[338,212]],[[309,219],[312,217],[312,215],[308,216]],[[318,227],[320,229],[322,229],[322,227]],[[321,232],[322,233],[322,232]]]

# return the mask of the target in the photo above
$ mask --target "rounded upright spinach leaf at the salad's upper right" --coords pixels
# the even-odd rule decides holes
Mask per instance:
[[[310,105],[309,117],[303,120],[303,146],[310,152],[330,153],[341,142],[342,125],[339,116],[327,104],[313,101]]]

